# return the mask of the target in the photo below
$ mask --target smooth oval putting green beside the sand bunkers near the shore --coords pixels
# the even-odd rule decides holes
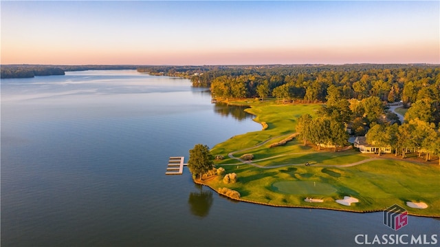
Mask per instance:
[[[330,184],[312,181],[281,181],[272,184],[274,191],[294,195],[331,195],[337,189]]]

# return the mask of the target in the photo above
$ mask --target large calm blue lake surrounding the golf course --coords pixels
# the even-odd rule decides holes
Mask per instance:
[[[168,158],[187,161],[197,143],[260,130],[242,110],[211,104],[187,79],[131,70],[1,80],[1,246],[355,246],[356,235],[439,234],[438,219],[409,216],[395,231],[382,213],[235,202],[187,168],[165,175]]]

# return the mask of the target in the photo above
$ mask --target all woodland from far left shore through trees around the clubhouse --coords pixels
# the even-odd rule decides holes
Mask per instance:
[[[209,87],[216,100],[272,97],[279,104],[324,103],[318,118],[299,119],[305,141],[342,147],[350,129],[352,135],[366,135],[371,144],[393,147],[396,154],[410,148],[426,153],[428,160],[430,153],[440,149],[436,140],[440,135],[440,65],[2,65],[1,78],[88,69],[136,69],[155,76],[189,78],[193,87]],[[402,103],[408,109],[405,121],[386,111],[386,103]],[[309,125],[322,126],[331,134],[314,138],[307,133]]]

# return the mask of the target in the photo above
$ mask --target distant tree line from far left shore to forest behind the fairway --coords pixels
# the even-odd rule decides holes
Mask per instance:
[[[435,125],[440,122],[440,65],[2,65],[1,78],[87,69],[137,69],[151,75],[190,78],[193,87],[209,87],[219,100],[275,97],[279,103],[326,103],[327,114],[341,114],[341,107],[353,108],[357,100],[367,104],[364,111],[377,105],[370,101],[401,102],[406,108],[412,106],[410,118],[418,116]],[[359,117],[364,114],[351,111],[360,111]]]

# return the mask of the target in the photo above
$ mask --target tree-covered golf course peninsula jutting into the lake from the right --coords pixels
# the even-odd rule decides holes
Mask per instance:
[[[213,147],[195,182],[271,206],[440,217],[438,65],[229,67],[191,81],[262,125]]]

